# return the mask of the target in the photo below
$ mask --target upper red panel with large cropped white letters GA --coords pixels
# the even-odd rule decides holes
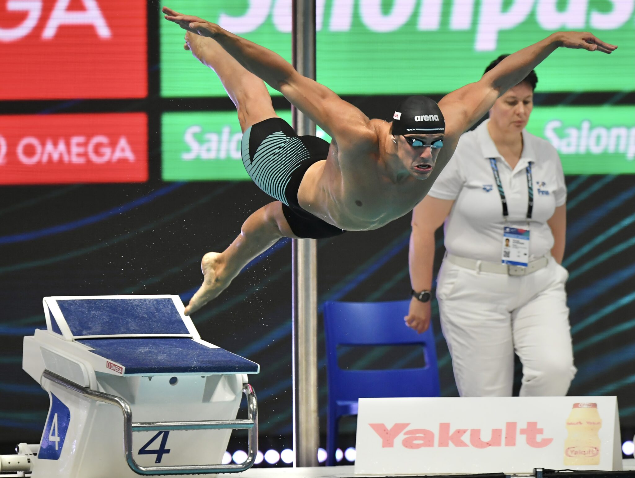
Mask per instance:
[[[147,96],[144,0],[0,0],[0,99]]]

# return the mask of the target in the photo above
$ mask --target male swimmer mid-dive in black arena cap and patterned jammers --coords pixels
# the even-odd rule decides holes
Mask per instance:
[[[559,46],[603,53],[617,48],[587,32],[554,33],[509,55],[439,104],[422,96],[406,99],[388,123],[368,119],[263,46],[199,17],[167,7],[163,13],[187,30],[185,48],[218,74],[236,105],[244,166],[257,186],[276,199],[247,218],[227,249],[203,256],[203,285],[186,315],[217,297],[280,238],[368,231],[410,212],[450,160],[460,135]],[[276,115],[264,82],[321,126],[331,144],[298,137]]]

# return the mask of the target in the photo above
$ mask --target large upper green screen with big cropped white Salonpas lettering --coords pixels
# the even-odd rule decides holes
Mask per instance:
[[[289,0],[173,0],[171,8],[291,58]],[[559,49],[537,67],[538,91],[635,87],[635,0],[318,0],[318,81],[340,95],[445,93],[477,81],[491,60],[559,30],[591,31],[612,55]],[[161,95],[220,96],[212,71],[161,19]]]

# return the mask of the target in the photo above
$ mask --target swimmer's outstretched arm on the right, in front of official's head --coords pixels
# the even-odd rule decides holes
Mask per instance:
[[[558,47],[611,53],[616,45],[605,43],[588,32],[556,32],[538,43],[512,53],[476,83],[449,93],[439,102],[446,119],[446,135],[460,135],[482,118],[494,102],[518,85],[542,60]]]

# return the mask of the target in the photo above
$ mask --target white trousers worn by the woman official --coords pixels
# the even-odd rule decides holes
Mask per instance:
[[[551,256],[521,277],[443,261],[436,296],[462,397],[510,397],[514,352],[523,364],[521,397],[566,395],[576,372],[567,278]]]

